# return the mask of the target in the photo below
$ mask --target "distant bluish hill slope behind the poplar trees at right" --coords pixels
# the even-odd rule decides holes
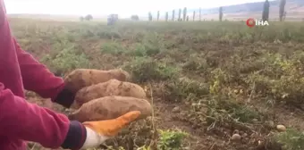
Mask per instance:
[[[280,0],[270,1],[270,19],[278,20]],[[264,2],[247,3],[247,4],[233,4],[223,6],[224,19],[227,20],[246,20],[249,17],[261,18]],[[217,20],[218,7],[210,9],[202,9],[202,20]],[[287,12],[286,20],[301,21],[304,14],[303,0],[289,0],[285,5]],[[175,10],[178,13],[179,8]],[[196,20],[198,20],[199,8],[188,9],[188,15],[192,19],[193,12],[197,12]],[[162,16],[164,17],[164,16]],[[169,12],[169,18],[172,17],[172,11]]]

